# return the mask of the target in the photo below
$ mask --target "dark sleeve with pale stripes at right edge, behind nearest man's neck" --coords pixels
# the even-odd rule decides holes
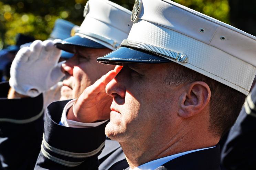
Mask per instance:
[[[223,146],[221,160],[227,170],[256,169],[256,86],[245,100],[237,122]]]

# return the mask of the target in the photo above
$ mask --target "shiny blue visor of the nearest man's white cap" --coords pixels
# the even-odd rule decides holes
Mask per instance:
[[[138,49],[132,49],[127,47],[120,47],[113,52],[97,58],[99,63],[122,65],[122,63],[169,63],[172,62],[164,57],[156,54],[142,51]]]

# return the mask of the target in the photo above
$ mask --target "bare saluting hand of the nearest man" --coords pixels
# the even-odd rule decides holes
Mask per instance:
[[[87,87],[68,111],[67,119],[84,123],[109,119],[113,98],[107,95],[105,88],[121,69],[122,66],[116,66],[114,70]]]

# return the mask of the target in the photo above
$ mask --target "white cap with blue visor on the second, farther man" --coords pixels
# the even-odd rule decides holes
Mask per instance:
[[[133,22],[131,11],[108,0],[89,0],[84,9],[84,21],[75,36],[64,39],[56,46],[74,52],[75,46],[88,48],[120,47],[128,37]]]

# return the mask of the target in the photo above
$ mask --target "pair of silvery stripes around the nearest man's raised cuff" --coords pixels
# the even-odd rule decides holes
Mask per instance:
[[[45,146],[45,148],[47,148],[48,150],[50,150],[56,154],[60,154],[60,155],[68,156],[68,157],[72,157],[72,158],[88,158],[88,157],[96,155],[100,150],[102,150],[102,148],[105,146],[105,141],[97,149],[90,151],[90,152],[85,152],[85,153],[69,152],[69,151],[65,151],[62,149],[57,149],[55,147],[52,147],[51,145],[49,145],[46,142],[46,140],[44,139],[44,136],[43,136],[42,144]]]

